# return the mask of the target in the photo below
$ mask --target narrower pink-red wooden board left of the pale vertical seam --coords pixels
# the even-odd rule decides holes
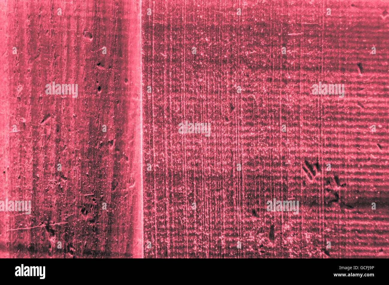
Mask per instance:
[[[32,201],[0,212],[0,257],[142,257],[140,2],[0,12],[0,200]],[[46,94],[53,81],[78,97]]]

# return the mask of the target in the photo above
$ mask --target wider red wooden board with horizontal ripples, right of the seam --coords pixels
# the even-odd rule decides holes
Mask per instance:
[[[145,257],[389,257],[385,10],[142,2]],[[319,81],[344,98],[313,95]],[[266,211],[273,198],[300,213]]]

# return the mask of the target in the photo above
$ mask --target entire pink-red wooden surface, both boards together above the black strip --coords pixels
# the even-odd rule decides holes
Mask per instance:
[[[386,11],[0,0],[0,257],[389,257]]]

